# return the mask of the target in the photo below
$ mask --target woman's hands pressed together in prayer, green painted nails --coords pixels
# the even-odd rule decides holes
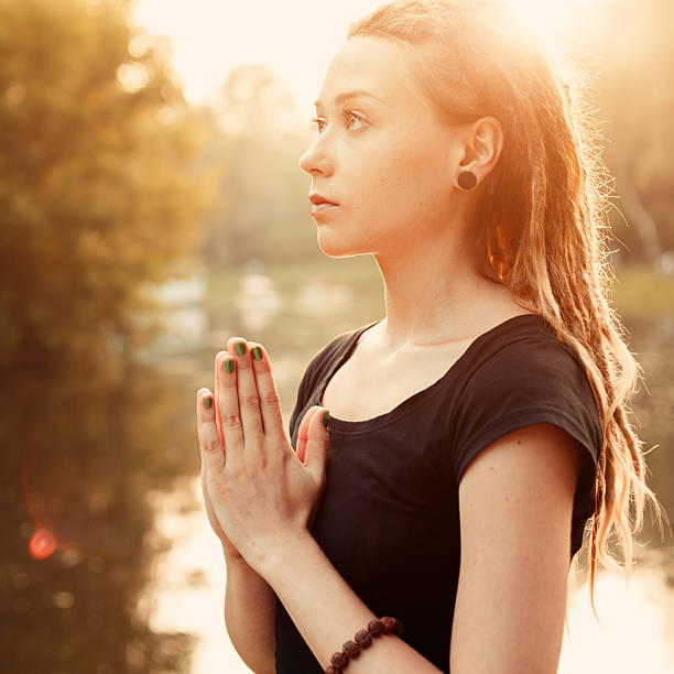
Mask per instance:
[[[327,411],[306,412],[295,453],[268,356],[240,337],[216,355],[215,399],[204,388],[196,403],[208,521],[227,556],[259,570],[279,546],[306,535],[325,487]]]

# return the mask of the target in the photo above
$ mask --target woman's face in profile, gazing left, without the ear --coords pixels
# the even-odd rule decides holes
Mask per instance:
[[[350,37],[333,59],[316,141],[300,157],[309,192],[338,204],[312,215],[326,254],[391,257],[447,236],[463,146],[415,79],[391,40]],[[367,94],[340,98],[355,90]]]

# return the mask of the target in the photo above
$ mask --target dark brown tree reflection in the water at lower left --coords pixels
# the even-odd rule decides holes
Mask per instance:
[[[153,630],[134,607],[167,546],[148,544],[144,494],[170,490],[198,457],[191,405],[150,369],[111,370],[10,373],[0,425],[7,672],[189,671],[194,637]]]

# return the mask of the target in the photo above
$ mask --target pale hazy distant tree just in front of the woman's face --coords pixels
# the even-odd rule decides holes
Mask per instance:
[[[222,178],[220,207],[206,220],[208,264],[319,257],[309,181],[297,165],[309,139],[291,91],[265,66],[244,64],[229,73],[209,102],[208,161],[221,164]]]

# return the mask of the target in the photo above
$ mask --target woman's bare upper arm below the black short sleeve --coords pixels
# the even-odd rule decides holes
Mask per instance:
[[[555,674],[580,448],[534,424],[480,450],[459,483],[453,674]]]

